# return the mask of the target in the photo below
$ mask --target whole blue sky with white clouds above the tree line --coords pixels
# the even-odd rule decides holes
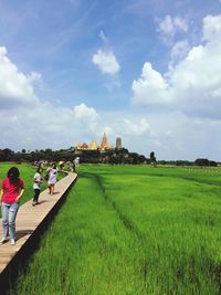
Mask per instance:
[[[104,133],[221,161],[221,0],[0,0],[0,149]]]

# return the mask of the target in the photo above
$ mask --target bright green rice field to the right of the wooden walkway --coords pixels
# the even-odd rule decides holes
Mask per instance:
[[[81,166],[9,294],[221,294],[221,170]]]

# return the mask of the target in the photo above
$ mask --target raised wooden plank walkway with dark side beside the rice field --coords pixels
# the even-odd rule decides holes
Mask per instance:
[[[40,233],[48,226],[49,220],[53,219],[76,177],[76,173],[70,172],[56,182],[52,196],[49,194],[48,190],[44,190],[40,193],[39,204],[33,207],[32,200],[30,200],[19,208],[15,221],[15,245],[10,245],[10,241],[0,244],[0,289],[7,278],[11,281],[11,277],[8,276],[12,272],[14,273],[13,265],[18,266],[19,260],[22,260],[22,256],[28,256],[25,251],[30,252],[30,249],[33,251],[36,239],[40,239]],[[2,221],[0,219],[0,239],[1,236]]]

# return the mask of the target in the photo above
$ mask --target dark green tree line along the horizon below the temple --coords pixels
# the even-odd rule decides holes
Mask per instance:
[[[207,166],[215,167],[219,162],[198,158],[194,161],[188,160],[157,160],[155,151],[149,154],[149,158],[137,152],[129,152],[126,148],[110,149],[110,150],[78,150],[78,149],[60,149],[52,150],[46,149],[35,149],[34,151],[27,151],[22,149],[21,151],[13,151],[9,148],[0,149],[0,161],[14,161],[14,162],[35,162],[40,160],[46,161],[73,161],[76,157],[80,157],[80,162],[85,164],[133,164],[133,165],[172,165],[172,166]]]

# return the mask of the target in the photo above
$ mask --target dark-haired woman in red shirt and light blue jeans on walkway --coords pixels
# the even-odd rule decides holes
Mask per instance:
[[[19,176],[19,169],[11,167],[8,171],[8,177],[2,181],[0,192],[3,229],[1,243],[7,242],[9,233],[11,245],[15,243],[15,217],[19,209],[19,200],[24,193],[24,182]]]

